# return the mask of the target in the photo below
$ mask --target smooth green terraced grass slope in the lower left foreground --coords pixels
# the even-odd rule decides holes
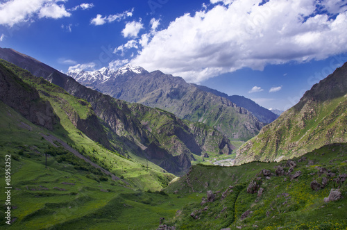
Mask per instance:
[[[98,170],[90,172],[92,169],[73,156],[60,161],[61,156],[69,154],[58,148],[53,149],[60,155],[49,156],[46,168],[42,153],[50,149],[50,144],[40,138],[40,133],[54,134],[31,124],[2,102],[0,108],[0,163],[5,165],[4,155],[10,154],[12,172],[12,224],[2,221],[0,228],[153,229],[160,217],[174,215],[176,207],[188,200],[201,199],[137,190],[124,181],[112,181]],[[0,196],[1,204],[5,204],[5,198]],[[2,213],[4,208],[1,206]]]

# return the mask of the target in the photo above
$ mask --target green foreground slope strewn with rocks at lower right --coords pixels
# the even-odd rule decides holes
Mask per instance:
[[[347,144],[334,144],[279,163],[194,165],[165,191],[203,194],[205,202],[187,204],[165,224],[178,229],[346,229],[346,159]],[[319,189],[312,188],[312,181]],[[344,198],[325,203],[332,188]],[[214,202],[208,202],[208,190]]]

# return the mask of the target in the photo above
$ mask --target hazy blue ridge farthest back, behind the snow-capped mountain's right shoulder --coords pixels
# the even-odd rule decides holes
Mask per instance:
[[[269,124],[273,122],[278,117],[278,115],[273,113],[273,111],[268,110],[256,104],[254,101],[246,97],[238,96],[238,95],[228,96],[227,94],[223,92],[219,92],[218,90],[212,90],[211,88],[208,88],[203,85],[196,85],[196,87],[198,87],[199,89],[205,92],[212,92],[214,95],[229,99],[230,101],[235,103],[237,106],[246,108],[246,110],[250,111],[253,115],[255,115],[255,117],[257,117],[257,119],[260,120],[260,122],[263,122],[265,124]]]

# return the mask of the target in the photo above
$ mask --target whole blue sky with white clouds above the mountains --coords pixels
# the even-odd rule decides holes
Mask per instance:
[[[347,61],[346,0],[1,0],[0,47],[148,71],[287,110]]]

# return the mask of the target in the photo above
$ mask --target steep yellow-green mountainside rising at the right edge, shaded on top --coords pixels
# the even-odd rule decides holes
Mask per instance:
[[[237,151],[236,164],[280,161],[323,145],[347,142],[347,63]]]

